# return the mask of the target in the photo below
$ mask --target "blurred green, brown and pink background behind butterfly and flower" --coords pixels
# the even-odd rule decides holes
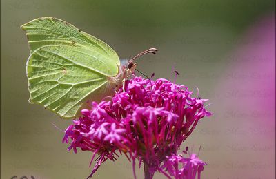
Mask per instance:
[[[57,17],[106,41],[138,69],[172,78],[209,98],[204,118],[184,145],[208,163],[203,178],[275,178],[275,1],[1,0],[1,178],[86,178],[91,154],[67,151],[61,120],[28,104],[28,43],[20,25]],[[137,168],[137,177],[143,178]],[[95,178],[133,178],[124,156]],[[155,178],[164,178],[156,174]]]

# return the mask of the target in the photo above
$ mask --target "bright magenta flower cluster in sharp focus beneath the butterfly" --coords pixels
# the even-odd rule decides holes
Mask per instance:
[[[177,155],[198,121],[210,116],[204,108],[206,100],[191,94],[188,87],[166,79],[135,77],[111,101],[93,102],[92,109],[83,109],[83,116],[66,129],[63,142],[70,143],[68,150],[92,151],[92,160],[99,154],[90,176],[102,162],[124,154],[133,169],[135,159],[139,165],[144,162],[148,178],[155,171],[168,178],[195,178],[196,174],[200,178],[206,163],[195,154]]]

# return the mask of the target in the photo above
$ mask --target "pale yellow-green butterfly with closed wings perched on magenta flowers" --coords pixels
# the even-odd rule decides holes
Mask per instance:
[[[21,28],[30,45],[27,61],[30,103],[39,103],[61,118],[75,118],[89,101],[112,95],[135,70],[124,64],[109,45],[53,17],[34,19]]]

